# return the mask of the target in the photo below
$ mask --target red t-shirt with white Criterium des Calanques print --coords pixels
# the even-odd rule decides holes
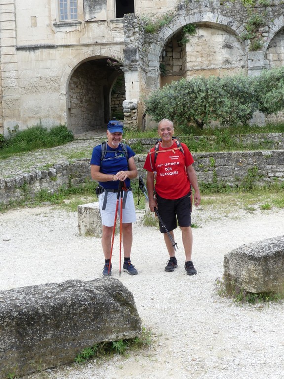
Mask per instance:
[[[173,142],[172,149],[159,146],[155,163],[155,148],[152,148],[144,164],[145,170],[156,171],[155,190],[164,199],[179,199],[187,195],[191,188],[186,167],[194,163],[194,159],[188,147],[183,143],[181,146],[184,153],[180,149],[175,149],[177,148],[175,142]]]

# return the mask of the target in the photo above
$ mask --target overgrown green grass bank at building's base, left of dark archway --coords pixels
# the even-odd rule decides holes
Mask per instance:
[[[9,137],[1,141],[0,159],[6,159],[21,152],[60,146],[74,139],[71,131],[64,125],[55,126],[50,130],[37,125],[21,131],[16,126],[8,131]]]

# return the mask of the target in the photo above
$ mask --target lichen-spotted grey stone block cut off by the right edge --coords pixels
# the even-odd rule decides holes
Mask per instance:
[[[284,236],[242,245],[224,257],[224,280],[253,293],[284,291]]]

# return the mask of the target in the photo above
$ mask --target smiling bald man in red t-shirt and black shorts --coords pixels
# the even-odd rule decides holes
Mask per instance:
[[[147,155],[144,169],[147,170],[147,191],[149,207],[152,212],[158,209],[159,215],[174,240],[173,230],[178,225],[182,232],[182,243],[185,251],[185,270],[188,275],[196,275],[191,261],[191,186],[194,189],[194,204],[200,204],[200,191],[196,172],[192,166],[193,157],[188,147],[173,141],[174,126],[172,121],[163,119],[158,124],[161,143],[158,150],[152,148]],[[156,183],[155,183],[156,180]],[[154,196],[154,189],[156,196]],[[172,272],[178,267],[172,241],[160,223],[160,232],[170,256],[165,271]]]

